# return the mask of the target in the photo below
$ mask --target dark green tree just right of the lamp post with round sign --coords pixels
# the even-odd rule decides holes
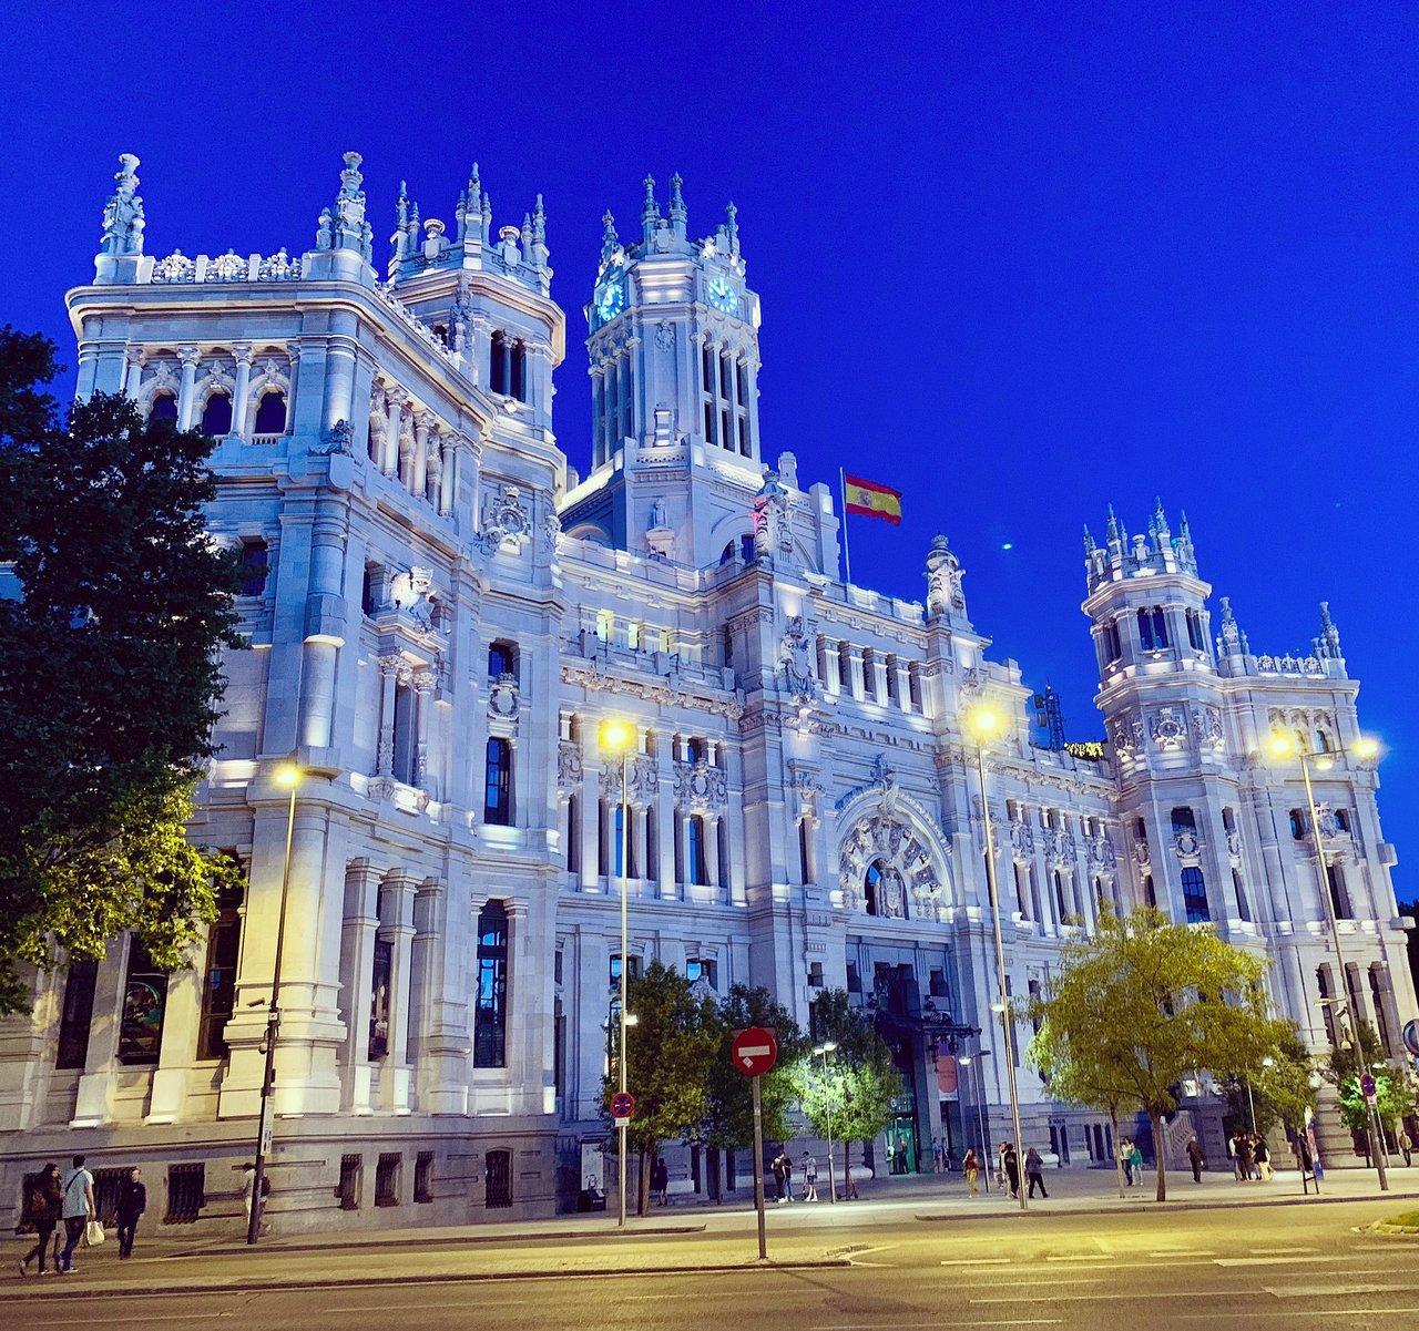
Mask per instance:
[[[719,1049],[719,1009],[711,998],[695,998],[678,971],[653,961],[627,988],[636,1025],[627,1032],[626,1086],[636,1097],[627,1145],[639,1164],[637,1213],[650,1203],[650,1162],[661,1142],[692,1137],[710,1108],[707,1074]],[[613,1040],[614,1040],[613,1026]],[[610,1122],[610,1097],[619,1088],[612,1067],[602,1084],[602,1107]]]

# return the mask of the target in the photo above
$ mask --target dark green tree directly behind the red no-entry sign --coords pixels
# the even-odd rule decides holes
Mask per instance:
[[[773,1030],[779,1059],[773,1070],[759,1078],[759,1111],[765,1141],[788,1141],[793,1132],[790,1112],[797,1095],[795,1066],[807,1051],[807,1040],[789,1010],[773,1000],[768,989],[734,985],[719,1003],[719,1047],[707,1068],[707,1112],[701,1137],[718,1151],[753,1145],[753,1093],[729,1059],[729,1044],[736,1030],[763,1026]],[[633,1064],[634,1066],[634,1064]],[[714,1196],[719,1199],[718,1158],[715,1159]]]

